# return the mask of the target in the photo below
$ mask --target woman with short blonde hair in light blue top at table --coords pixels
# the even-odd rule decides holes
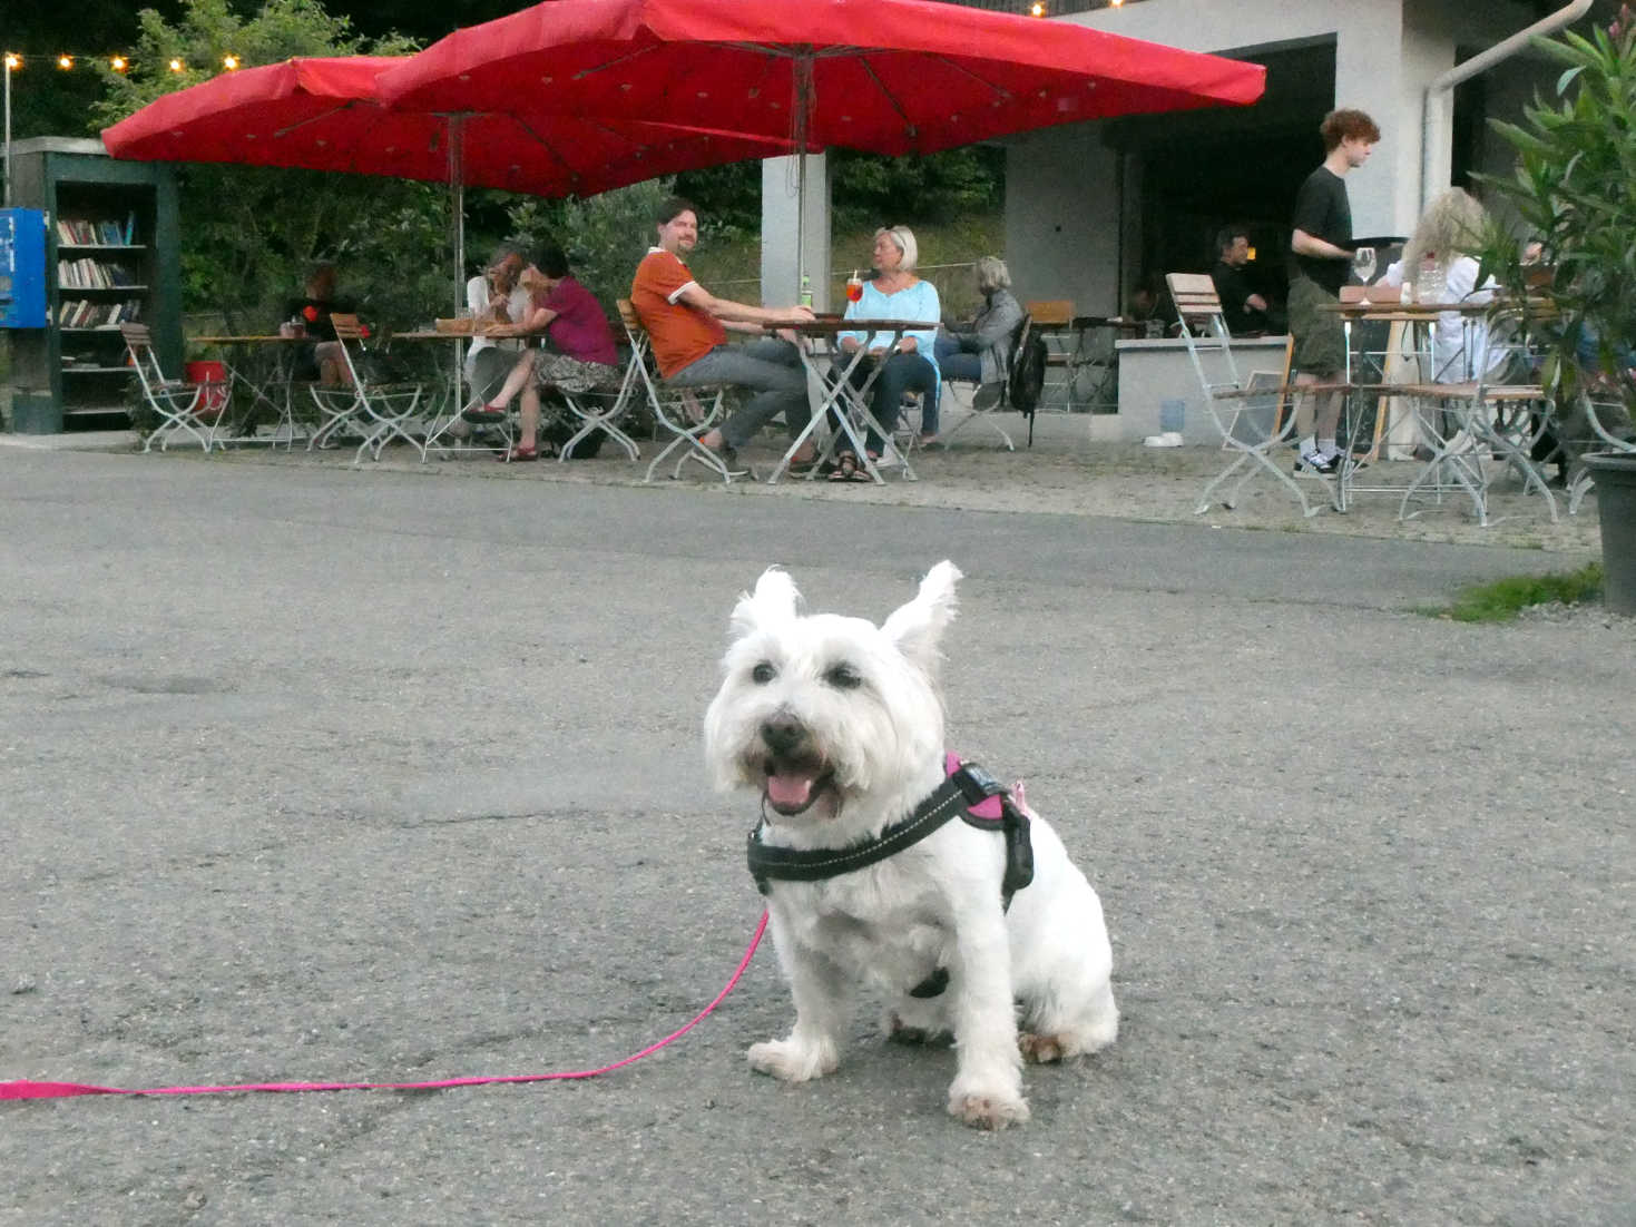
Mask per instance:
[[[905,319],[924,324],[911,329],[893,345],[890,332],[841,332],[839,342],[847,355],[867,350],[867,357],[852,371],[852,383],[862,386],[875,363],[882,363],[880,376],[870,388],[870,412],[882,429],[892,430],[897,425],[898,412],[903,406],[903,393],[916,391],[924,398],[921,411],[921,442],[931,442],[937,435],[937,358],[934,344],[937,340],[937,324],[941,306],[937,303],[937,286],[921,281],[915,275],[915,263],[919,249],[915,244],[915,232],[908,226],[885,226],[875,231],[874,267],[875,278],[864,283],[864,296],[846,304],[847,319]],[[890,347],[890,353],[888,353]],[[849,358],[843,358],[846,362]],[[864,447],[869,448],[870,460],[879,458],[885,443],[869,432]],[[836,455],[839,466],[831,473],[834,481],[852,481],[867,476],[859,471],[857,456],[851,450]]]

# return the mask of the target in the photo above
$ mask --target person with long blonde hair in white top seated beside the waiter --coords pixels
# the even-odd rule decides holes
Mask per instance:
[[[1384,286],[1402,286],[1418,280],[1423,257],[1432,257],[1443,278],[1445,303],[1490,303],[1499,283],[1490,276],[1477,286],[1479,265],[1467,255],[1482,245],[1487,213],[1461,188],[1449,188],[1432,198],[1415,232],[1404,244],[1404,257],[1381,276]],[[1415,270],[1415,272],[1409,272]],[[1417,290],[1418,296],[1418,290]],[[1471,342],[1467,353],[1466,344]],[[1489,383],[1512,383],[1515,350],[1495,334],[1489,345],[1489,324],[1481,316],[1461,316],[1445,311],[1432,327],[1432,380],[1435,383],[1464,383],[1476,378],[1474,363],[1484,352],[1489,355]],[[1517,375],[1526,373],[1526,363],[1517,363]]]

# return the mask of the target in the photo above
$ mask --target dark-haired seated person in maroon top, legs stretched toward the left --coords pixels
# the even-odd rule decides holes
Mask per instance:
[[[528,312],[514,324],[494,326],[488,335],[527,337],[528,348],[517,355],[494,399],[468,414],[476,420],[504,420],[512,398],[522,393],[517,445],[501,460],[538,458],[542,388],[589,393],[618,383],[618,350],[607,312],[568,270],[568,257],[558,247],[546,247],[519,280],[530,294]],[[542,342],[551,348],[542,348]]]

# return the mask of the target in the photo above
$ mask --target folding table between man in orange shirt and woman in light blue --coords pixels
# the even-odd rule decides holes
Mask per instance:
[[[910,468],[908,456],[898,450],[898,445],[892,438],[890,430],[883,430],[875,416],[869,411],[869,389],[874,388],[875,380],[880,378],[880,371],[885,363],[875,363],[869,378],[864,381],[862,388],[854,388],[851,383],[852,371],[857,370],[867,353],[862,345],[852,353],[841,348],[836,337],[841,332],[867,332],[872,339],[879,339],[880,334],[890,335],[887,348],[897,345],[905,332],[919,329],[936,329],[937,322],[924,322],[915,319],[841,319],[839,316],[823,316],[820,319],[787,324],[780,327],[769,327],[769,334],[789,329],[795,332],[800,340],[795,348],[802,355],[802,366],[807,370],[807,399],[811,406],[811,417],[807,419],[807,425],[790,443],[789,450],[779,458],[777,466],[772,470],[772,476],[767,478],[767,484],[775,484],[780,476],[789,470],[790,460],[800,452],[802,445],[813,437],[820,422],[829,416],[834,409],[834,417],[841,424],[838,434],[831,434],[818,460],[828,460],[839,443],[843,434],[852,443],[852,455],[857,456],[857,463],[864,466],[875,484],[883,486],[885,478],[880,476],[880,461],[869,458],[869,448],[864,445],[865,432],[874,427],[875,434],[883,440],[887,448],[882,453],[882,460],[892,455],[893,460],[888,463],[900,465],[903,468],[903,479],[915,481],[915,470]],[[928,396],[936,396],[934,388]],[[859,422],[862,419],[862,430]],[[818,465],[813,465],[807,479],[811,481],[818,474]]]

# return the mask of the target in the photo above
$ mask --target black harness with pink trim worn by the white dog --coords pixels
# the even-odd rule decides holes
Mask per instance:
[[[959,761],[951,756],[951,762]],[[1005,836],[1006,874],[1000,883],[1000,900],[1009,908],[1011,897],[1034,880],[1034,846],[1029,843],[1027,815],[1011,800],[1011,792],[975,762],[959,762],[903,821],[893,823],[874,839],[839,851],[769,847],[761,839],[767,825],[762,818],[749,833],[749,872],[762,895],[771,890],[772,882],[823,882],[913,847],[957,815],[980,831]]]

